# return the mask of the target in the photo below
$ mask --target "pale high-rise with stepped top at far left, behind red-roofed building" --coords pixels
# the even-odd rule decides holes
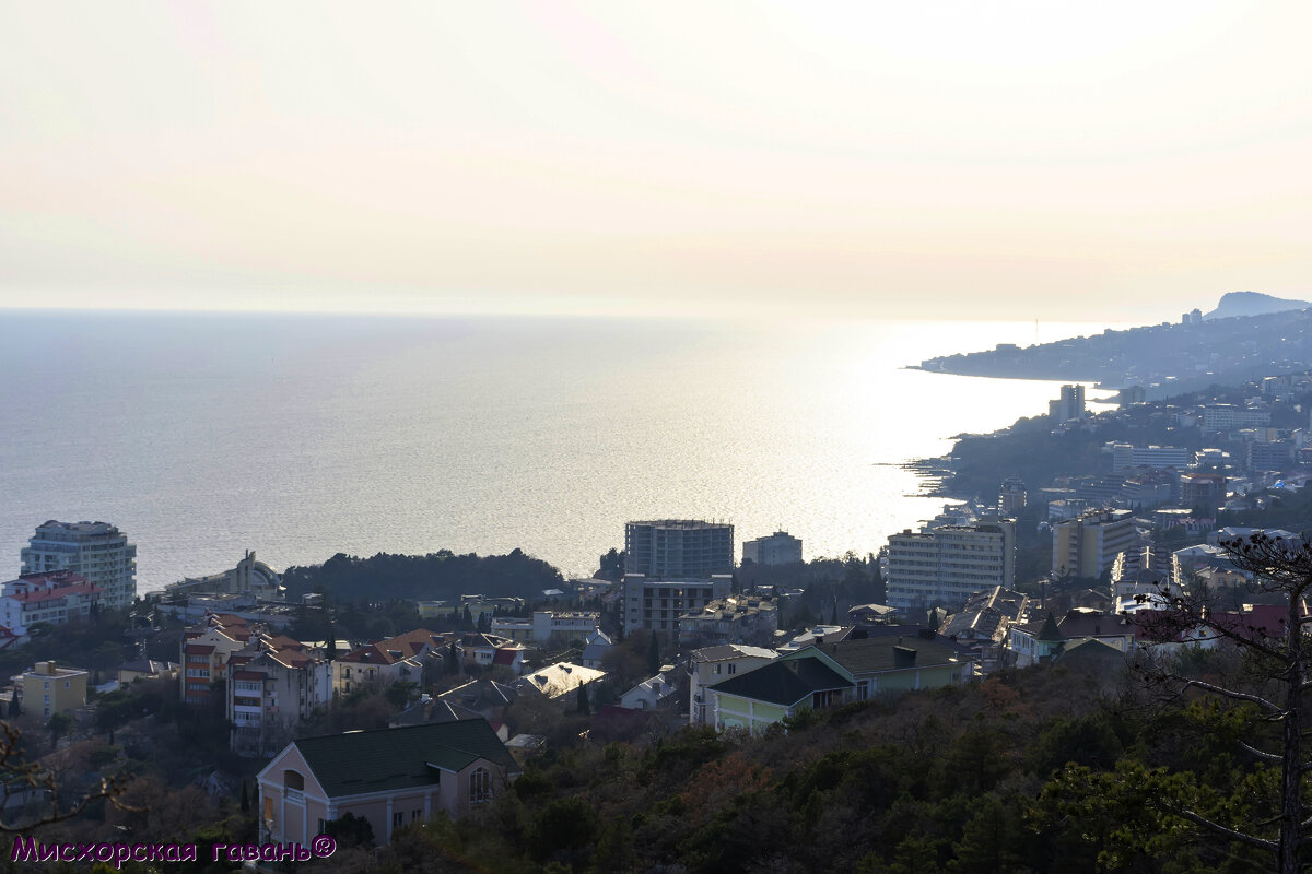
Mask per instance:
[[[24,574],[71,570],[100,588],[101,604],[126,607],[136,599],[136,545],[104,522],[50,522],[22,548]]]

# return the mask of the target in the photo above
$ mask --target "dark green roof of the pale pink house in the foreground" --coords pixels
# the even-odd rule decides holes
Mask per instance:
[[[350,731],[293,742],[329,798],[426,786],[429,765],[459,770],[487,759],[517,770],[487,719],[461,719],[401,729]]]

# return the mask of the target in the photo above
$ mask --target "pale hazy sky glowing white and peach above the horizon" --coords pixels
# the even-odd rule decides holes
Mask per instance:
[[[0,3],[0,307],[1312,297],[1307,3]]]

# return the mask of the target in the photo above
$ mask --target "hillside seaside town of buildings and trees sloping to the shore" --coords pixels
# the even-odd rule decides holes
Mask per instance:
[[[1269,370],[1160,400],[1130,384],[1105,409],[1063,385],[1046,415],[917,463],[947,503],[878,554],[615,520],[586,579],[521,550],[278,571],[251,544],[142,594],[130,531],[39,522],[0,586],[12,864],[1266,858],[1279,721],[1307,715],[1270,689],[1295,676],[1312,584],[1312,370]]]

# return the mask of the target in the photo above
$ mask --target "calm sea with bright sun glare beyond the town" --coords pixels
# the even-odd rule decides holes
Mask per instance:
[[[1103,325],[1042,326],[1040,338]],[[942,501],[896,463],[1046,411],[1051,383],[900,370],[1029,322],[0,314],[0,574],[105,520],[138,583],[337,552],[589,574],[638,518],[874,552]]]

